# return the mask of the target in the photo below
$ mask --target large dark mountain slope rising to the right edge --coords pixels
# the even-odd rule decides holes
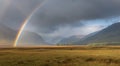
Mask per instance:
[[[91,34],[90,34],[91,35]],[[89,36],[89,35],[88,35]],[[82,39],[75,44],[116,44],[120,43],[120,22],[114,23],[107,28]]]

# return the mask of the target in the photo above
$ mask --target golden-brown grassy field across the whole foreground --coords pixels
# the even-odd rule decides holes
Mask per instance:
[[[0,66],[120,66],[120,47],[1,48]]]

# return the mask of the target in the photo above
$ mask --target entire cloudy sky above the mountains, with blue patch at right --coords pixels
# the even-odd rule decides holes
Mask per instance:
[[[87,35],[120,21],[120,0],[0,0],[0,24],[36,32],[49,43]]]

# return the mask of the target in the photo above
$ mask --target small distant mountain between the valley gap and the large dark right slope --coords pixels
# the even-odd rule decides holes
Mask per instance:
[[[58,42],[58,44],[72,44],[72,43],[80,40],[83,37],[84,37],[84,35],[71,36],[71,37],[62,39],[60,42]]]

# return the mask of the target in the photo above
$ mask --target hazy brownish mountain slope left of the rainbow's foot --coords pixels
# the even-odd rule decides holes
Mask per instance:
[[[0,23],[0,44],[12,44],[16,34],[17,31]]]

